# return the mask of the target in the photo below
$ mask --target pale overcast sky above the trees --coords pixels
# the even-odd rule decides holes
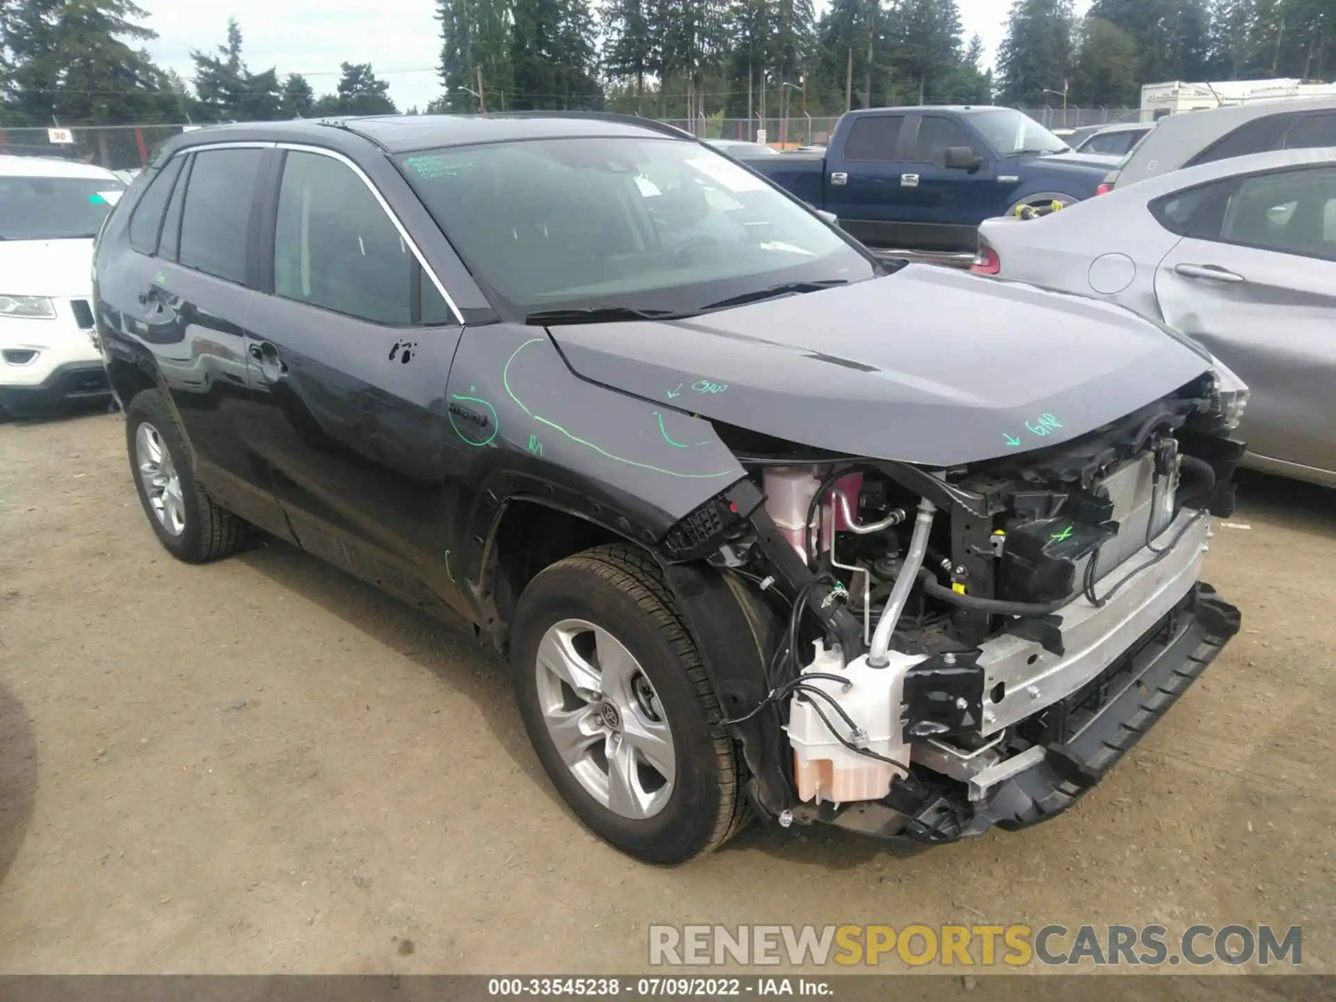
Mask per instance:
[[[997,53],[1011,4],[1007,0],[958,0],[965,35]],[[1085,7],[1088,0],[1078,0]],[[399,108],[426,103],[441,92],[436,75],[441,55],[440,24],[432,0],[224,0],[219,4],[182,0],[139,0],[150,12],[147,27],[158,32],[148,43],[154,60],[187,80],[195,72],[190,49],[212,51],[227,37],[227,19],[242,28],[242,55],[251,71],[277,67],[279,75],[302,73],[317,95],[334,90],[338,64],[370,63],[390,81]],[[818,11],[826,4],[818,0]]]

